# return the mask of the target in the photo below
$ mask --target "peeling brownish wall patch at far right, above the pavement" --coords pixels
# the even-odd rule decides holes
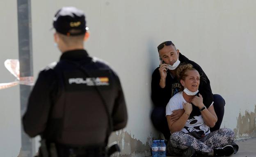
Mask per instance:
[[[256,137],[256,105],[254,112],[245,111],[245,115],[239,113],[234,133],[236,140]]]

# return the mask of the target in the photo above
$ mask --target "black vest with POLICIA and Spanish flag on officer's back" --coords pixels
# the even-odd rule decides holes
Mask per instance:
[[[69,146],[107,145],[116,84],[111,69],[97,67],[89,59],[62,60],[54,68],[57,94],[53,96],[51,115],[42,135],[49,142]]]

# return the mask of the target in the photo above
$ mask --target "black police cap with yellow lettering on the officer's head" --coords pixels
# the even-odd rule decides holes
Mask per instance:
[[[53,18],[53,27],[58,33],[68,36],[85,34],[88,29],[85,14],[75,7],[59,9]]]

